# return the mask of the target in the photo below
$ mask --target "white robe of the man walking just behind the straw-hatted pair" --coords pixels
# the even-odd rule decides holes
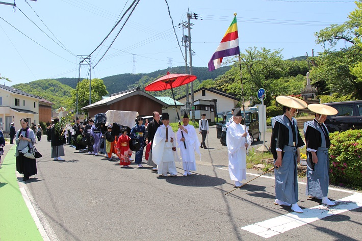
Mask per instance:
[[[233,181],[246,180],[246,152],[245,142],[251,145],[249,132],[247,137],[242,137],[245,125],[232,122],[227,128],[226,144],[229,157],[229,174]]]

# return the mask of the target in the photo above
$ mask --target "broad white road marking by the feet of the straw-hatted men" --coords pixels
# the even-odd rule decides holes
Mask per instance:
[[[303,213],[291,212],[287,215],[242,227],[241,229],[264,238],[269,238],[325,217],[362,207],[362,194],[355,193],[335,202],[337,203],[335,206],[318,205],[304,208]]]

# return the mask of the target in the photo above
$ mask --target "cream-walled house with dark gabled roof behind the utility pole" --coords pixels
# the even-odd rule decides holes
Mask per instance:
[[[181,103],[185,103],[185,106],[181,110],[186,109],[186,95],[177,98]],[[191,94],[189,94],[189,100],[191,101]],[[217,113],[227,113],[234,108],[239,99],[235,95],[227,94],[222,90],[215,88],[200,88],[194,91],[194,105],[195,105],[195,119],[201,119],[201,114],[206,114],[206,119],[214,121]],[[189,106],[189,110],[191,110]],[[189,116],[191,115],[191,111]]]

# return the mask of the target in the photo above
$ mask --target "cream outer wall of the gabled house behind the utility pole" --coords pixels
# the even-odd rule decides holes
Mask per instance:
[[[217,107],[217,112],[229,112],[231,111],[232,108],[234,108],[238,101],[234,100],[234,99],[230,99],[228,97],[210,92],[210,91],[205,91],[205,95],[202,96],[202,91],[198,91],[196,93],[194,93],[194,100],[198,100],[198,99],[202,99],[202,100],[211,100],[211,99],[217,99],[217,103],[216,103],[216,107]],[[191,96],[189,96],[189,100],[191,100]],[[183,99],[179,99],[178,100],[181,103],[185,103],[186,104],[186,97]],[[184,109],[185,107],[182,107],[182,109]],[[195,119],[196,118],[196,114],[195,114]]]

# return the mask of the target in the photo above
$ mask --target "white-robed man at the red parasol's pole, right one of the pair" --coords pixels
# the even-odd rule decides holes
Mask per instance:
[[[195,127],[189,125],[189,121],[189,116],[185,113],[182,119],[183,125],[178,126],[176,133],[177,147],[180,148],[182,164],[185,171],[184,176],[192,175],[190,171],[196,171],[195,151],[201,158]]]

